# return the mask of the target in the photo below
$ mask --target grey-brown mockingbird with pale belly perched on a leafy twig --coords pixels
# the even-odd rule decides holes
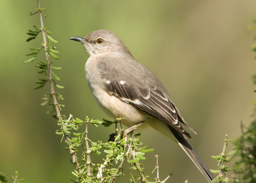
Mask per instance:
[[[69,39],[83,43],[90,55],[86,78],[100,108],[113,119],[124,118],[122,124],[132,126],[130,130],[143,123],[177,142],[212,182],[214,176],[188,143],[191,136],[181,123],[196,132],[184,121],[164,84],[133,58],[122,40],[108,30]]]

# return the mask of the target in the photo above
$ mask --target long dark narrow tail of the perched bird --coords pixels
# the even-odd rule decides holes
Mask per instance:
[[[185,139],[185,137],[183,137],[183,135],[180,132],[172,129],[171,131],[174,137],[177,139],[177,142],[179,143],[179,145],[182,147],[182,149],[187,153],[190,159],[196,164],[197,168],[204,174],[204,177],[209,182],[212,182],[212,180],[215,177],[212,175],[212,172],[209,170],[209,168],[206,166],[206,164],[203,162],[200,156],[196,153],[195,149],[189,144],[188,140]]]

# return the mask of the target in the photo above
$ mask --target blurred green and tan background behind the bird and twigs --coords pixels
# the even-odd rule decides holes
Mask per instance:
[[[62,68],[55,72],[59,85],[65,86],[57,89],[65,98],[62,114],[111,120],[94,102],[87,86],[84,65],[88,54],[82,44],[68,40],[108,29],[170,90],[172,101],[198,134],[190,132],[193,140],[189,142],[210,169],[216,169],[210,156],[221,153],[225,134],[233,139],[240,134],[240,121],[245,125],[251,121],[255,31],[246,27],[256,18],[256,1],[41,0],[40,4],[46,8],[44,26],[59,41],[54,45],[60,60],[54,60],[53,66]],[[1,1],[0,171],[9,176],[17,170],[29,183],[70,182],[66,175],[75,177],[71,174],[74,166],[67,162],[69,152],[55,134],[56,121],[44,114],[49,108],[40,106],[48,85],[43,91],[33,90],[38,78],[34,65],[45,60],[44,53],[33,63],[22,64],[30,58],[25,56],[31,52],[28,48],[42,43],[41,35],[26,42],[28,29],[40,25],[38,14],[29,16],[35,8],[36,0]],[[91,125],[89,138],[107,141],[113,131],[113,127]],[[176,143],[154,130],[141,133],[140,140],[155,149],[141,162],[149,180],[156,176],[151,172],[157,154],[160,179],[170,171],[174,175],[167,182],[207,182]],[[101,158],[95,155],[92,161]],[[124,171],[126,177],[116,182],[130,182],[128,168]]]

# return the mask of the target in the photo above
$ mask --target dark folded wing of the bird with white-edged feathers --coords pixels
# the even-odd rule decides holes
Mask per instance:
[[[189,133],[179,123],[179,119],[182,118],[180,115],[178,117],[175,110],[176,107],[173,107],[172,102],[170,102],[163,92],[157,88],[150,89],[138,86],[135,88],[128,82],[123,80],[118,81],[117,78],[113,78],[108,83],[105,86],[109,93],[113,93],[125,102],[131,102],[145,113],[167,123],[191,139]]]

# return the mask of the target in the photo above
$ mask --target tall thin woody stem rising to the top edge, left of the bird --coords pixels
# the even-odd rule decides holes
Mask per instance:
[[[53,99],[53,104],[54,104],[54,107],[56,109],[56,113],[57,113],[57,117],[58,117],[58,120],[61,121],[62,118],[61,118],[61,114],[60,114],[60,109],[58,107],[58,102],[57,102],[57,99],[56,99],[56,96],[55,96],[55,91],[54,91],[54,82],[53,82],[53,78],[52,78],[52,69],[51,69],[51,63],[50,63],[50,60],[49,60],[49,52],[46,52],[47,50],[47,41],[46,41],[46,36],[45,36],[45,31],[44,31],[44,23],[43,23],[43,18],[42,18],[42,13],[40,11],[40,4],[39,4],[39,0],[37,0],[37,5],[38,5],[38,14],[39,14],[39,19],[40,19],[40,24],[41,24],[41,32],[42,32],[42,36],[43,36],[43,46],[44,46],[44,52],[45,52],[45,57],[46,57],[46,63],[47,63],[47,68],[48,68],[48,74],[49,74],[49,83],[50,83],[50,89],[51,89],[51,95],[52,95],[52,99]],[[69,142],[69,137],[65,136],[65,140],[69,143],[69,151],[70,151],[70,155],[72,156],[72,162],[76,168],[76,171],[81,172],[79,168],[79,164],[77,163],[77,160],[76,160],[76,153],[75,151],[72,149],[72,144],[71,142]]]

